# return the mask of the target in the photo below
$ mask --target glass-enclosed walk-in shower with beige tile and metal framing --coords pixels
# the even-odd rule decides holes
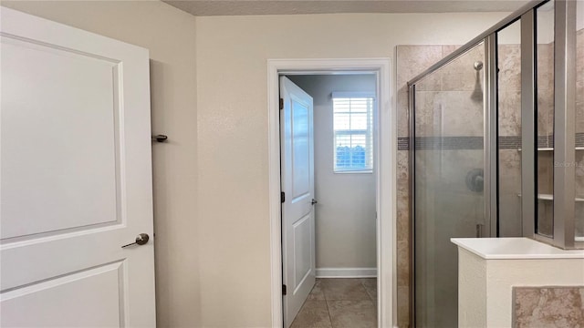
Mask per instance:
[[[408,86],[412,325],[455,327],[451,238],[584,248],[584,2],[532,1]]]

